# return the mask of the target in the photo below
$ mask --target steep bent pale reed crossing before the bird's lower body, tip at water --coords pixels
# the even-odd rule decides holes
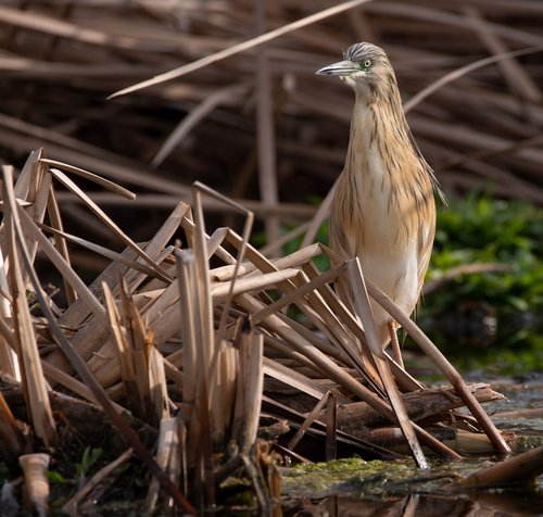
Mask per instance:
[[[366,341],[384,386],[390,405],[392,406],[392,409],[397,417],[397,423],[400,424],[400,428],[402,429],[405,440],[409,444],[415,462],[417,463],[419,468],[428,468],[428,463],[426,461],[425,454],[420,444],[418,443],[417,437],[413,429],[413,424],[409,419],[409,416],[407,415],[407,412],[405,411],[404,403],[402,401],[402,398],[400,396],[396,384],[390,371],[389,364],[387,363],[380,344],[377,326],[375,324],[374,315],[371,314],[371,306],[369,304],[369,298],[366,291],[366,285],[364,281],[364,275],[362,273],[359,258],[356,257],[352,261],[349,261],[348,264],[349,278],[351,279],[351,286],[353,288],[354,294],[353,304],[355,306],[356,313],[362,319]]]

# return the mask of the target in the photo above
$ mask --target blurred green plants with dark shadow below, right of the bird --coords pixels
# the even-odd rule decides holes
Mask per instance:
[[[458,351],[459,366],[492,365],[509,374],[542,369],[542,257],[541,209],[477,192],[441,207],[429,280],[464,264],[497,263],[507,270],[443,283],[425,298],[418,320],[433,328],[447,354]]]

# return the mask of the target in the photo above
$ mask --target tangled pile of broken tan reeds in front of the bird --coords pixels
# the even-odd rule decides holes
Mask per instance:
[[[27,489],[47,487],[49,454],[59,463],[73,441],[108,444],[121,456],[66,510],[132,454],[155,479],[151,512],[159,487],[187,510],[187,495],[214,504],[214,487],[242,467],[269,506],[279,495],[276,452],[293,461],[331,459],[338,451],[390,458],[403,446],[427,467],[421,445],[449,458],[459,457],[453,446],[473,440],[509,450],[480,406],[501,395],[487,384],[466,386],[408,316],[365,282],[357,260],[339,261],[321,244],[269,260],[249,243],[253,213],[202,184],[192,187],[193,207],[180,202],[151,239],[136,243],[77,185],[80,178],[132,196],[43,151],[30,154],[16,182],[10,166],[2,169],[0,451],[14,471],[17,461],[38,463],[37,479],[25,470]],[[65,231],[60,185],[115,235],[122,253]],[[204,197],[244,216],[242,236],[226,227],[205,232]],[[179,229],[181,240],[169,244]],[[90,286],[71,264],[74,247],[110,261]],[[319,272],[314,260],[323,254],[331,266]],[[39,255],[63,287],[42,285]],[[359,318],[331,288],[340,275],[356,287]],[[64,307],[55,302],[59,290]],[[368,295],[452,389],[426,389],[381,350]],[[318,331],[289,314],[291,306]],[[472,417],[455,411],[463,405]],[[38,507],[47,494],[34,495]]]

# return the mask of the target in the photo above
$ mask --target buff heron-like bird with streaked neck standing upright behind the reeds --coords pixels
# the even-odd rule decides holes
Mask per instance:
[[[412,135],[394,74],[380,48],[355,43],[343,60],[316,72],[337,76],[355,92],[345,164],[330,205],[330,248],[358,257],[366,279],[412,314],[417,306],[435,235],[434,192],[440,185]],[[340,282],[338,294],[352,292]],[[349,304],[349,303],[348,303]],[[403,366],[397,324],[372,299],[381,346],[392,340]]]

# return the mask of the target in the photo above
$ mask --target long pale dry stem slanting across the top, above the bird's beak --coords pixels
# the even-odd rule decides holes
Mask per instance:
[[[113,99],[114,97],[131,93],[132,91],[141,90],[142,88],[148,88],[149,86],[159,85],[166,80],[172,80],[177,77],[181,77],[182,75],[203,68],[204,66],[224,60],[225,58],[229,58],[230,55],[235,55],[239,52],[244,52],[245,50],[266,43],[267,41],[272,41],[273,39],[279,38],[280,36],[285,36],[286,34],[292,33],[293,30],[298,30],[302,27],[314,24],[327,17],[333,16],[344,11],[349,11],[350,9],[356,8],[358,5],[363,5],[364,3],[367,3],[369,1],[371,0],[351,0],[348,2],[342,2],[339,5],[325,9],[323,11],[319,11],[318,13],[312,14],[302,20],[298,20],[296,22],[292,22],[290,24],[278,27],[275,30],[270,30],[269,33],[265,33],[261,36],[257,36],[256,38],[242,41],[241,43],[233,45],[232,47],[220,50],[219,52],[206,55],[197,61],[179,66],[178,68],[166,72],[165,74],[157,75],[152,79],[148,79],[142,83],[138,83],[137,85],[132,85],[128,88],[124,88],[123,90],[116,91],[115,93],[111,94],[108,99]]]

